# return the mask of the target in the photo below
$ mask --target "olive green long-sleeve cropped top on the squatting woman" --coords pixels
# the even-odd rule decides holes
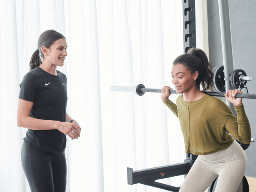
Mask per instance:
[[[226,103],[210,95],[192,102],[184,101],[180,95],[177,105],[169,99],[164,103],[180,120],[186,153],[208,155],[226,149],[234,141],[232,136],[245,144],[251,142],[244,105],[234,106],[236,118]]]

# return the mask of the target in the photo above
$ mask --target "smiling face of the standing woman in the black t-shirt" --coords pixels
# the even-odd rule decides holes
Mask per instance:
[[[66,49],[66,39],[58,39],[47,49],[48,55],[44,59],[47,59],[53,65],[61,67],[64,65],[65,57],[68,55]]]

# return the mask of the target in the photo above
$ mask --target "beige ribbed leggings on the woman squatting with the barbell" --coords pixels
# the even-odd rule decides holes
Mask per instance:
[[[226,149],[198,156],[179,192],[204,192],[217,177],[219,178],[214,192],[236,192],[246,165],[244,150],[234,141]]]

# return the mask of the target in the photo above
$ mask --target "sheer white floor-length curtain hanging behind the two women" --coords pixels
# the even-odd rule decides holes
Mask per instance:
[[[180,0],[0,0],[0,191],[30,191],[20,160],[27,130],[16,123],[19,84],[48,29],[66,37],[68,56],[57,70],[68,78],[67,112],[82,127],[81,138],[67,138],[67,191],[162,191],[128,185],[127,167],[183,162],[179,121],[160,94],[110,86],[172,86],[172,61],[183,54]]]

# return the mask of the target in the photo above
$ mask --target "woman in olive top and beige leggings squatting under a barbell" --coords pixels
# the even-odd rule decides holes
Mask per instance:
[[[204,192],[217,177],[215,192],[235,192],[244,176],[247,159],[232,136],[242,143],[251,142],[250,123],[242,98],[235,98],[242,91],[225,93],[236,109],[237,118],[222,100],[203,93],[213,85],[213,72],[200,49],[190,49],[177,57],[171,73],[176,92],[182,95],[176,105],[168,99],[171,87],[164,86],[161,98],[180,120],[186,153],[198,155],[180,192]]]

